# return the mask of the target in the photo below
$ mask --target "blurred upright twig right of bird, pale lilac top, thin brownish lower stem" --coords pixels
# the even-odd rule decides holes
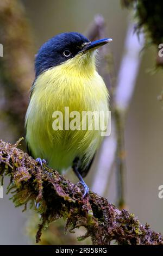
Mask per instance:
[[[117,132],[117,194],[118,206],[124,207],[124,173],[126,169],[126,153],[124,148],[124,124],[126,114],[134,94],[136,77],[141,63],[141,49],[143,47],[143,34],[134,33],[134,23],[129,23],[126,41],[124,43],[124,55],[118,72],[117,87],[114,97],[114,117]]]

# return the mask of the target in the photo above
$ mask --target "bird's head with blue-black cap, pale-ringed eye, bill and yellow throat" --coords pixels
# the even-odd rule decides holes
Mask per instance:
[[[61,33],[43,44],[35,58],[36,77],[42,72],[65,64],[71,69],[88,69],[95,66],[95,50],[112,39],[91,42],[77,32]]]

